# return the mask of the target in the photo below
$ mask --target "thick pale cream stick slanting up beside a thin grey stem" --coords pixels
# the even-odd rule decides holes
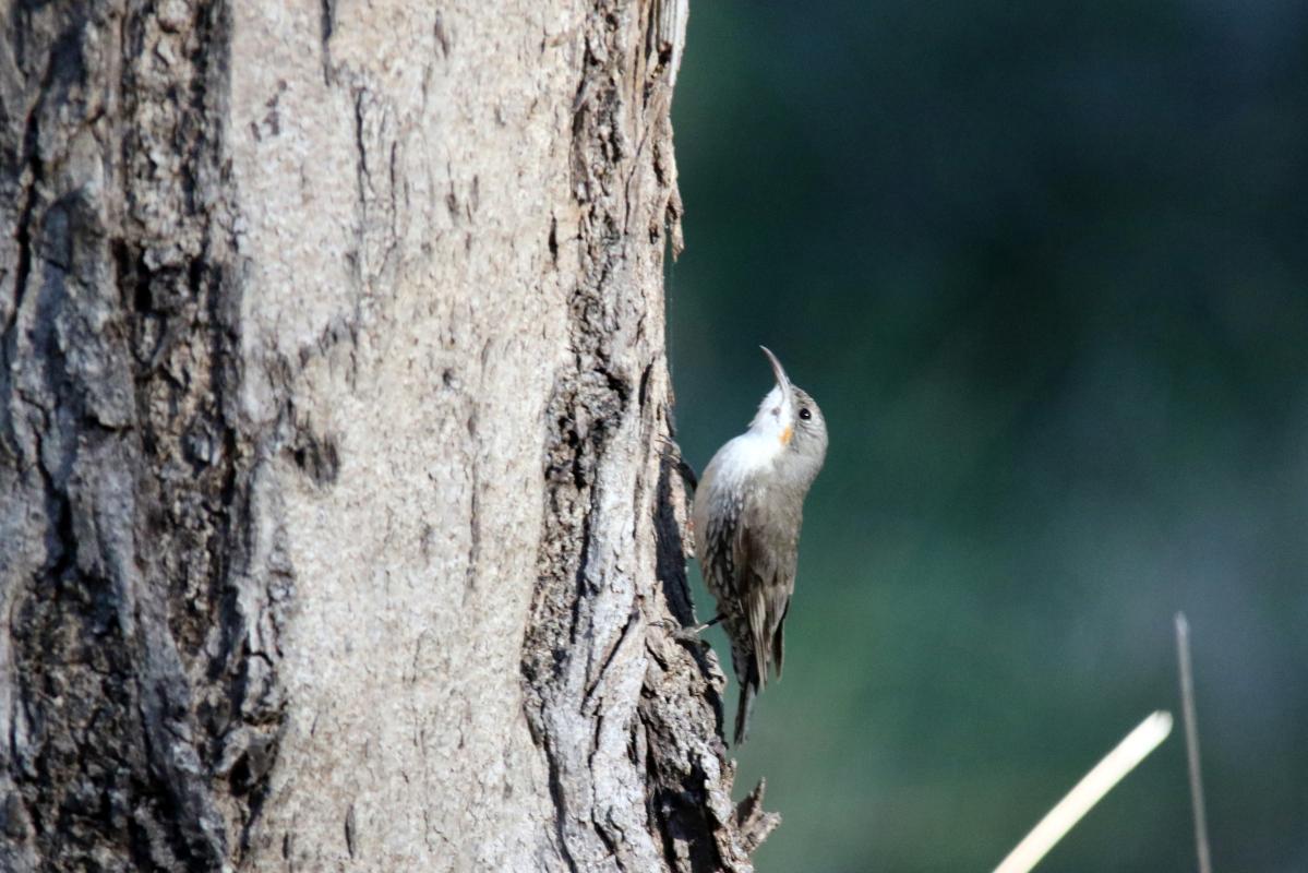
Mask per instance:
[[[1040,823],[1018,843],[1018,848],[994,868],[994,873],[1028,873],[1080,821],[1082,815],[1158,749],[1169,733],[1172,733],[1169,712],[1155,712],[1139,722],[1135,730],[1126,734],[1116,749],[1104,755],[1104,759],[1058,801],[1057,806],[1045,813]]]

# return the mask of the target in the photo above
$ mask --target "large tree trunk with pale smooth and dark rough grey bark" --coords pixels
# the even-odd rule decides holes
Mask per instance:
[[[0,8],[0,868],[749,869],[685,0]]]

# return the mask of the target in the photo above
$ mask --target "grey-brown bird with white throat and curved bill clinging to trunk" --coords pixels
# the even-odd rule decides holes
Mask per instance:
[[[717,450],[695,487],[695,551],[740,686],[732,743],[749,730],[769,668],[781,678],[783,626],[795,593],[799,527],[808,488],[827,458],[827,420],[765,346],[776,386],[749,429]]]

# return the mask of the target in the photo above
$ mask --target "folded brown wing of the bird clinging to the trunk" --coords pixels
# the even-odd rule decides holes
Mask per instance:
[[[753,640],[759,679],[782,661],[782,622],[795,590],[795,531],[785,518],[765,512],[765,495],[747,500],[735,530],[734,563],[742,613]]]

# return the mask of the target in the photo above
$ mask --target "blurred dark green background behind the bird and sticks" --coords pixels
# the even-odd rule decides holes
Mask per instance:
[[[832,432],[759,869],[993,868],[1179,713],[1185,610],[1215,866],[1308,870],[1308,7],[697,0],[674,118],[687,458],[759,343]],[[1189,815],[1176,730],[1040,869]]]

